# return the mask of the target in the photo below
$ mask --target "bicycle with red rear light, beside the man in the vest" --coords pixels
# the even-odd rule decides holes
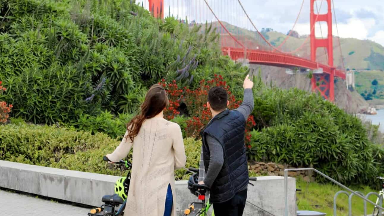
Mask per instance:
[[[194,178],[193,182],[198,182],[199,169],[190,167],[188,168],[188,171],[192,174],[195,174],[191,176],[191,178]],[[256,181],[257,178],[250,177],[249,180]],[[253,186],[252,183],[249,184]],[[192,193],[192,191],[191,193],[197,196],[199,201],[191,203],[190,206],[184,210],[184,214],[181,216],[208,216],[207,213],[212,204],[209,203],[209,199],[207,202],[205,202],[205,194],[209,191],[209,186],[195,183],[192,185],[192,188],[195,189],[196,193]],[[212,211],[212,216],[215,216],[214,211]]]

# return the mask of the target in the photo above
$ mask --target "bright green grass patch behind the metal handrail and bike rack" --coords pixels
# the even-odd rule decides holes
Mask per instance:
[[[331,183],[306,183],[299,178],[296,178],[296,188],[302,190],[296,192],[298,210],[320,211],[326,213],[326,215],[333,215],[333,197],[336,192],[342,190],[341,187]],[[365,195],[372,191],[378,193],[378,191],[372,190],[369,186],[351,186],[350,188],[360,191]],[[376,202],[376,197],[372,195],[369,200]],[[345,194],[338,196],[336,206],[338,216],[348,215],[348,197]],[[367,203],[367,215],[372,214],[372,211],[373,205]],[[358,196],[353,196],[352,198],[352,215],[364,215],[364,204]]]

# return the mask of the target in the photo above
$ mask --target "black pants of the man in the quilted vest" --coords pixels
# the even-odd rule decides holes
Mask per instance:
[[[228,201],[214,203],[214,213],[217,216],[242,216],[246,200],[247,189],[237,192],[236,195]]]

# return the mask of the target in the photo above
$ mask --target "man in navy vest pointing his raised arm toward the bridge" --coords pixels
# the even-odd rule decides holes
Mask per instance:
[[[202,131],[202,157],[199,184],[210,187],[210,203],[215,215],[241,216],[247,200],[248,163],[245,150],[245,125],[253,110],[253,82],[249,75],[243,83],[243,103],[228,110],[227,91],[212,87],[208,92],[207,106],[212,119]],[[204,179],[204,180],[202,180]],[[201,181],[202,180],[202,181]]]

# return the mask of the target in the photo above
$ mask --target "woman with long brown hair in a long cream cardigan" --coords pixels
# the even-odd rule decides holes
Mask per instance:
[[[126,157],[133,147],[132,173],[124,215],[175,216],[174,170],[185,166],[180,126],[163,118],[169,101],[156,84],[146,94],[140,114],[127,124],[127,131],[113,153],[112,162]]]

